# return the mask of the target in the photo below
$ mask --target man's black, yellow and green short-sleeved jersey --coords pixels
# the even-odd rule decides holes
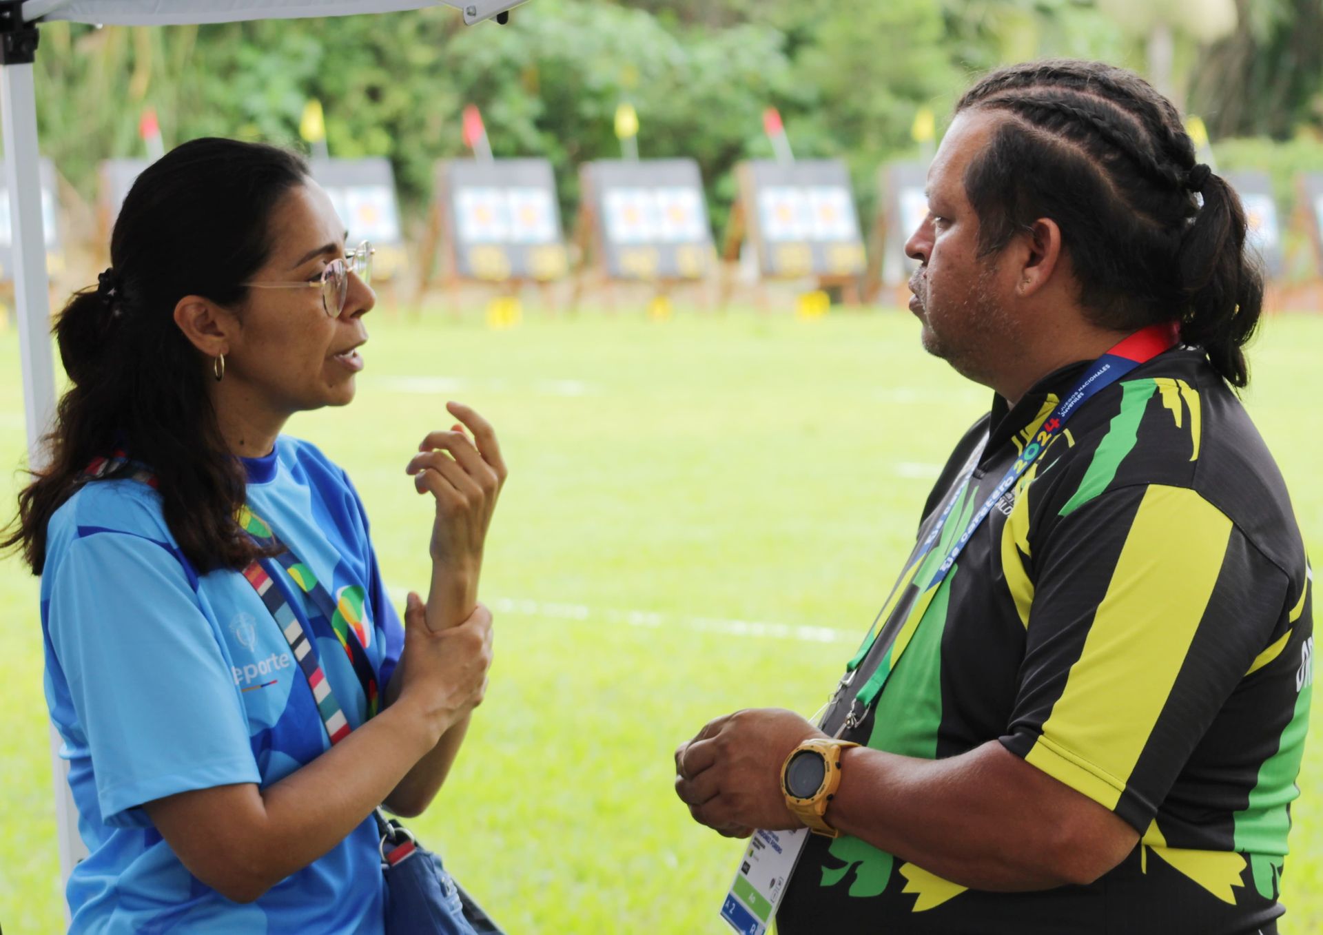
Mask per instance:
[[[844,738],[929,759],[999,739],[1115,811],[1139,845],[1089,886],[986,893],[811,836],[782,935],[1275,931],[1314,681],[1310,571],[1277,464],[1201,353],[1170,350],[1085,403],[950,574],[927,594],[914,583],[1084,366],[1013,409],[996,399],[957,446],[919,542],[978,467],[875,624],[898,633],[894,668]]]

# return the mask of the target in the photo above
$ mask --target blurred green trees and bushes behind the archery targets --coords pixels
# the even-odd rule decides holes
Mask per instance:
[[[1039,56],[1135,67],[1204,118],[1228,153],[1323,168],[1320,0],[534,0],[508,26],[468,29],[450,8],[392,16],[168,29],[42,28],[42,147],[85,197],[95,165],[217,134],[302,147],[325,108],[335,156],[394,164],[406,214],[431,165],[463,155],[476,103],[497,156],[552,160],[565,206],[576,167],[619,155],[613,115],[635,106],[640,152],[692,156],[724,224],[730,167],[769,156],[765,107],[802,156],[852,167],[867,213],[876,167],[917,155],[919,108],[938,124],[972,75]],[[1285,144],[1287,156],[1275,148]],[[1269,153],[1265,156],[1263,153]],[[1307,167],[1304,167],[1307,168]]]

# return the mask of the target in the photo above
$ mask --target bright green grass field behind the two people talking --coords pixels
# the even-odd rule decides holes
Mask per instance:
[[[988,391],[923,354],[908,313],[368,323],[357,401],[288,430],[355,479],[392,589],[427,579],[430,501],[404,468],[429,428],[448,427],[446,399],[492,419],[512,469],[482,589],[497,611],[492,688],[417,831],[511,932],[725,931],[740,845],[689,821],[671,752],[736,708],[819,708]],[[0,354],[0,464],[17,467],[13,333]],[[1315,557],[1320,354],[1323,319],[1267,321],[1246,395]],[[0,926],[54,932],[37,586],[13,558],[0,598],[13,611],[0,630]],[[1323,931],[1320,747],[1295,809],[1290,935]]]

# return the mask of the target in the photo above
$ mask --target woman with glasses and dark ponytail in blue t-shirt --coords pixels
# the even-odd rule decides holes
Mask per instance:
[[[349,477],[282,434],[364,368],[372,247],[344,241],[299,157],[196,140],[56,325],[70,386],[8,545],[90,852],[71,931],[382,931],[373,811],[427,807],[483,698],[491,426],[451,403],[400,455],[435,512],[404,624]]]

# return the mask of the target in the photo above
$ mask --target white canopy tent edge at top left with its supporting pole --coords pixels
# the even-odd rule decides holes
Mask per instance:
[[[101,25],[179,25],[237,20],[385,13],[423,7],[455,7],[472,25],[525,0],[0,0],[0,116],[4,130],[4,181],[11,197],[15,298],[22,352],[22,398],[28,426],[28,463],[45,462],[42,436],[56,411],[54,358],[50,350],[50,283],[41,216],[37,107],[33,61],[42,20]],[[60,735],[50,730],[60,834],[61,879],[86,854],[60,758]]]

